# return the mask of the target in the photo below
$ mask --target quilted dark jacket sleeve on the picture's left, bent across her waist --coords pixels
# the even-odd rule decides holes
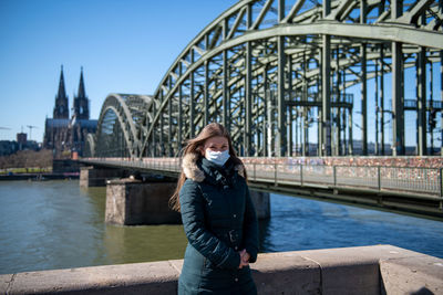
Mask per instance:
[[[218,267],[237,268],[240,255],[205,226],[204,202],[198,185],[187,179],[179,192],[179,201],[183,226],[189,244]]]

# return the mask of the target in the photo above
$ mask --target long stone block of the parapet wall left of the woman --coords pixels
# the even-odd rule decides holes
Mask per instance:
[[[167,262],[19,273],[9,294],[176,294],[178,274]]]

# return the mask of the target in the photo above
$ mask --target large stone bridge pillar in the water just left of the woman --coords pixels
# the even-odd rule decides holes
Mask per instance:
[[[177,224],[181,214],[168,207],[176,182],[110,180],[106,185],[106,223],[120,225]]]

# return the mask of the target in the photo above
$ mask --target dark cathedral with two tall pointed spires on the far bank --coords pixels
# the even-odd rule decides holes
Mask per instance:
[[[69,115],[69,97],[64,87],[63,66],[60,74],[59,92],[55,96],[53,118],[44,123],[43,147],[52,149],[54,156],[78,151],[82,155],[89,133],[95,133],[97,120],[90,119],[90,101],[83,81],[83,67],[80,74],[79,92],[74,95],[73,114]]]

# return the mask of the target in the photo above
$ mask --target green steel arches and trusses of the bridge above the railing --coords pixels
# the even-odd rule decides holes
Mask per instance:
[[[426,74],[440,64],[443,80],[442,11],[442,0],[239,1],[189,42],[154,95],[106,97],[89,156],[175,157],[210,122],[230,130],[241,156],[291,156],[293,139],[307,156],[312,128],[318,156],[352,155],[349,87],[357,84],[361,154],[368,154],[368,124],[375,124],[375,152],[385,154],[390,119],[392,155],[404,155],[409,110],[416,115],[416,154],[427,155],[430,137],[442,128],[435,120],[443,89],[436,99],[427,87],[434,75]],[[416,77],[412,99],[404,97],[406,69]],[[370,80],[375,87],[368,89]]]

